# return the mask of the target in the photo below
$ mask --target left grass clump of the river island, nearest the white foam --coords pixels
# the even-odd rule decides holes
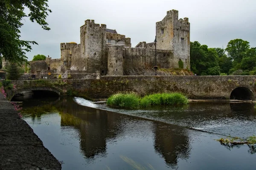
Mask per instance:
[[[114,94],[108,98],[107,105],[119,106],[122,108],[138,108],[139,97],[134,93]]]

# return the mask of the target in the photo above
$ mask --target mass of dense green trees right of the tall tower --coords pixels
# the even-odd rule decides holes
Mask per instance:
[[[241,39],[230,40],[226,49],[190,42],[190,61],[197,75],[256,75],[256,48]]]

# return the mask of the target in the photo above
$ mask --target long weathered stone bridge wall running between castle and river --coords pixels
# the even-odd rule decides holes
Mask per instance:
[[[52,91],[58,95],[107,98],[122,91],[139,95],[181,92],[190,99],[246,99],[256,96],[256,76],[103,76],[100,79],[13,81],[16,89],[8,98],[23,91]]]

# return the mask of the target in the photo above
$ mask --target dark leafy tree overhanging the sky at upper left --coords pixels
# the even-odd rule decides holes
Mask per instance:
[[[20,40],[21,20],[29,17],[37,22],[44,30],[49,30],[45,21],[48,12],[52,12],[48,0],[0,0],[0,58],[15,63],[26,61],[26,52],[31,51],[35,41]],[[24,13],[27,7],[29,14]]]

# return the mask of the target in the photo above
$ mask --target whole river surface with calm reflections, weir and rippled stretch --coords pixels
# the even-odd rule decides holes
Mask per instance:
[[[256,134],[251,103],[125,110],[79,97],[29,99],[23,116],[63,170],[256,169],[256,146],[215,140]]]

